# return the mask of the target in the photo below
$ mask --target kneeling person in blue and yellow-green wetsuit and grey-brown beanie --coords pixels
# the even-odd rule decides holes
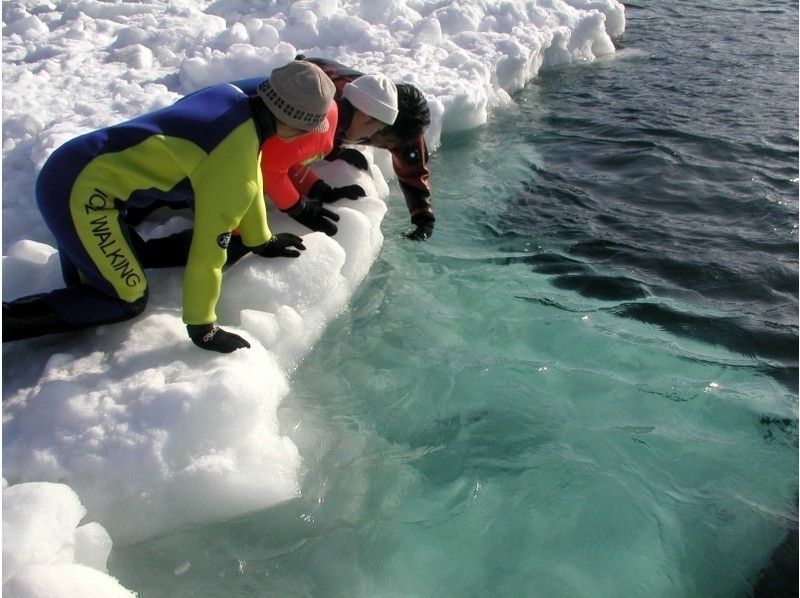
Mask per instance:
[[[328,130],[334,92],[319,67],[294,61],[275,69],[255,95],[212,86],[58,148],[39,174],[36,198],[67,287],[3,302],[3,341],[141,314],[148,264],[123,217],[128,206],[157,198],[194,208],[183,281],[189,337],[222,353],[249,347],[215,323],[231,233],[238,229],[244,246],[264,257],[297,257],[305,249],[300,237],[273,235],[267,226],[260,159],[270,157],[260,148],[274,136]]]

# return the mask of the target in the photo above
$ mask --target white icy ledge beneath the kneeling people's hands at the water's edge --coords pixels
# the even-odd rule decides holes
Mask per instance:
[[[192,345],[180,317],[180,269],[152,271],[146,315],[132,324],[17,343],[16,355],[8,349],[6,363],[18,355],[46,364],[4,402],[4,475],[68,484],[123,543],[298,496],[300,456],[277,421],[287,372],[376,259],[386,211],[378,170],[375,179],[341,163],[319,172],[334,184],[355,180],[369,196],[333,207],[341,221],[332,238],[272,214],[274,230],[305,232],[306,251],[250,255],[226,273],[219,322],[251,349],[220,355]],[[40,245],[11,252],[7,280],[42,286],[45,271],[58,285],[50,251],[46,261]]]

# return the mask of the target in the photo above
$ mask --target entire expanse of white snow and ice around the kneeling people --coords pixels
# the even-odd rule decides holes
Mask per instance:
[[[24,0],[2,10],[4,300],[63,285],[34,184],[47,157],[79,134],[207,85],[266,76],[302,52],[417,85],[435,150],[443,132],[512,104],[540,69],[613,53],[625,28],[617,0]],[[393,173],[388,153],[365,151],[369,174],[316,167],[330,184],[367,190],[333,207],[335,237],[271,209],[271,229],[302,234],[307,250],[295,260],[248,256],[226,273],[219,322],[251,349],[192,345],[181,269],[148,272],[150,302],[134,321],[3,345],[8,596],[130,595],[105,573],[112,540],[299,495],[302,455],[277,410],[383,244]],[[157,212],[144,232],[190,225]]]

